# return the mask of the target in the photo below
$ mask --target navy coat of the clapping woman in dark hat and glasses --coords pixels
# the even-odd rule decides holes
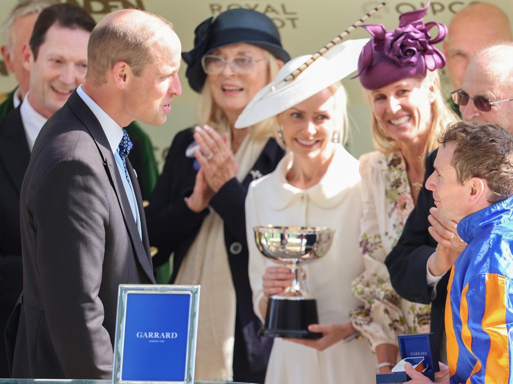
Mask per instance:
[[[178,133],[169,149],[162,175],[146,208],[150,244],[159,248],[153,258],[155,266],[164,263],[174,252],[173,275],[194,241],[208,209],[196,214],[184,198],[192,194],[196,170],[194,159],[185,156],[193,141],[193,129]],[[269,139],[252,170],[266,175],[274,170],[284,152],[274,139]],[[248,276],[248,247],[244,201],[249,183],[257,172],[251,172],[242,183],[229,180],[210,201],[210,206],[224,221],[225,245],[236,295],[235,345],[233,351],[234,381],[263,382],[272,339],[257,336],[262,327],[253,312],[252,291]]]

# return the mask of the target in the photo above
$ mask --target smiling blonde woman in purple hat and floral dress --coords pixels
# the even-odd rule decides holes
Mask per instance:
[[[424,24],[428,6],[429,1],[403,13],[392,31],[383,25],[363,26],[372,38],[358,63],[377,151],[360,157],[365,271],[352,283],[363,304],[351,313],[351,321],[370,340],[380,373],[391,372],[397,362],[397,335],[429,332],[429,306],[399,297],[384,261],[417,202],[427,154],[438,147],[447,124],[458,120],[444,101],[437,73],[445,57],[434,44],[443,40],[447,28]]]

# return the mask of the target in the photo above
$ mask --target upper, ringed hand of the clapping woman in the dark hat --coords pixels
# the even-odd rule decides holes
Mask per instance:
[[[220,136],[208,125],[196,126],[194,141],[201,149],[196,150],[194,156],[203,169],[208,185],[217,193],[235,177],[239,168],[231,153],[228,134]]]

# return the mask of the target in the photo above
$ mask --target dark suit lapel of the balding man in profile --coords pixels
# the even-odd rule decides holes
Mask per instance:
[[[153,277],[153,268],[151,265],[151,256],[148,250],[145,249],[143,242],[141,241],[141,237],[139,236],[139,230],[137,229],[137,224],[133,219],[132,209],[130,208],[130,203],[128,202],[128,197],[125,192],[125,187],[123,186],[123,180],[121,179],[121,175],[117,169],[117,164],[114,159],[114,154],[110,149],[110,144],[105,136],[103,128],[96,118],[92,111],[88,108],[86,103],[81,99],[80,96],[74,91],[68,99],[67,102],[74,112],[74,114],[82,121],[84,126],[88,129],[91,134],[93,140],[96,141],[100,151],[104,159],[106,160],[107,166],[105,167],[105,171],[107,172],[107,176],[112,182],[112,187],[114,188],[117,201],[120,205],[121,211],[123,213],[123,219],[125,221],[125,226],[127,228],[131,243],[132,249],[135,253],[137,260],[141,264],[143,270],[148,275],[148,278],[151,282],[154,282]],[[133,169],[132,169],[133,173]],[[135,178],[135,177],[133,177]],[[134,189],[135,189],[135,183]],[[137,205],[142,205],[141,193],[139,192],[139,197],[137,198]],[[140,208],[141,209],[141,208]],[[143,226],[143,222],[141,222],[141,227]],[[146,234],[146,242],[147,242],[147,234]]]

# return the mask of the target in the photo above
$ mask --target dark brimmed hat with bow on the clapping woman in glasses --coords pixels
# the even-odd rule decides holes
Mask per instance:
[[[263,13],[250,9],[230,9],[215,19],[209,17],[196,27],[194,34],[194,48],[183,52],[182,57],[188,64],[186,76],[189,85],[196,92],[201,92],[207,76],[201,66],[201,58],[219,47],[247,42],[265,49],[283,62],[290,60],[274,22]]]

